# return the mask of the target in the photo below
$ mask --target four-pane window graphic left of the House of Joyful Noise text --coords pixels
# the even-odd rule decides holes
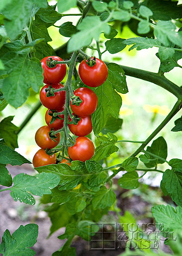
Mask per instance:
[[[95,232],[95,226],[99,228],[98,232]],[[117,238],[116,238],[116,223],[115,222],[99,222],[98,224],[89,223],[89,251],[98,250],[117,250]]]

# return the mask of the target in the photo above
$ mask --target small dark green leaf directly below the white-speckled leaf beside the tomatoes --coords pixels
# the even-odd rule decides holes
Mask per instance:
[[[108,132],[111,132],[111,133],[117,132],[119,129],[121,129],[122,124],[123,124],[123,119],[115,118],[115,117],[112,117],[112,115],[109,115],[108,121],[101,132],[103,134],[107,134]]]

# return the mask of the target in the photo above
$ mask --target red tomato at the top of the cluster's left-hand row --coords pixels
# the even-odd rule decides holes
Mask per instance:
[[[46,64],[49,57],[51,57],[53,60],[63,61],[63,59],[58,56],[48,56],[41,60],[44,76],[43,82],[57,84],[66,76],[66,64],[57,64],[55,67],[50,68]]]

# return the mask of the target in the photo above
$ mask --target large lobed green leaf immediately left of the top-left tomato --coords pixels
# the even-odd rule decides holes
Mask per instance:
[[[29,58],[28,49],[7,52],[2,59],[9,74],[3,80],[2,92],[8,103],[18,108],[28,98],[31,86],[38,92],[43,82],[42,66],[38,59]]]

